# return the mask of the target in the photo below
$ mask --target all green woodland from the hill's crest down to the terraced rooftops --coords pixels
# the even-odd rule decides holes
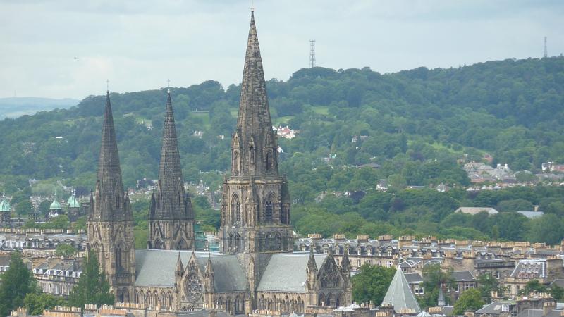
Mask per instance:
[[[273,123],[299,130],[295,139],[279,139],[280,171],[290,183],[299,232],[551,244],[564,237],[562,188],[466,192],[470,179],[458,163],[482,161],[488,153],[493,164],[508,163],[525,181],[543,162],[564,163],[564,58],[386,74],[317,67],[266,85]],[[210,80],[171,94],[185,180],[217,189],[218,171],[229,168],[240,85],[225,89]],[[111,101],[125,186],[157,178],[166,89],[111,94]],[[23,203],[16,211],[30,212],[24,202],[32,194],[30,178],[64,180],[85,193],[94,187],[103,108],[104,96],[89,96],[67,110],[0,121],[1,189],[13,205]],[[388,182],[388,192],[376,192],[380,180]],[[452,189],[436,192],[439,184]],[[137,247],[146,243],[143,206],[136,213]],[[195,206],[205,228],[219,227],[216,211]],[[503,213],[453,215],[459,206]],[[534,206],[546,216],[529,220],[515,213]]]

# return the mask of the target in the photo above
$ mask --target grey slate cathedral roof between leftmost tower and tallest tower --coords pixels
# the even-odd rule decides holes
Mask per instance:
[[[176,261],[180,253],[184,267],[188,264],[192,251],[178,250],[135,250],[135,285],[154,287],[173,287]],[[208,252],[195,252],[201,272],[205,271]],[[247,277],[234,254],[211,253],[214,266],[214,287],[216,292],[247,290]]]

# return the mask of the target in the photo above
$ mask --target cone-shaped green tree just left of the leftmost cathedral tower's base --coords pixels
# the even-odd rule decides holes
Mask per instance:
[[[100,271],[98,258],[92,251],[85,259],[82,274],[68,297],[68,302],[77,307],[85,304],[114,304],[114,294],[110,292],[106,274]]]

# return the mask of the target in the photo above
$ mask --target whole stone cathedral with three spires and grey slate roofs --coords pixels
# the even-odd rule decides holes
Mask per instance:
[[[97,254],[116,301],[231,315],[304,313],[350,304],[346,254],[338,265],[331,253],[293,253],[291,199],[286,178],[278,174],[277,149],[252,12],[231,137],[231,175],[223,182],[221,251],[194,251],[194,213],[183,187],[170,90],[147,249],[135,249],[108,92],[87,231],[88,248]]]

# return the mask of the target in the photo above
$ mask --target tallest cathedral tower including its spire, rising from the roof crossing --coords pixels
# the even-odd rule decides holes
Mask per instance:
[[[231,135],[231,175],[223,182],[223,253],[238,254],[254,292],[270,254],[293,250],[290,195],[278,175],[255,15],[251,13],[237,127]],[[256,283],[258,285],[258,282]]]

